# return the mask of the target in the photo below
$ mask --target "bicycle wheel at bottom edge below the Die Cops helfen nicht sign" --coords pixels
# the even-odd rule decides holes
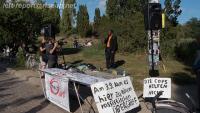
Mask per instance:
[[[190,109],[183,103],[173,100],[162,100],[156,102],[156,113],[191,113]]]

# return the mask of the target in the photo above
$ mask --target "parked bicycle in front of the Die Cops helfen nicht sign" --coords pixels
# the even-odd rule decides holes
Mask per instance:
[[[175,100],[158,100],[158,98],[162,95],[162,91],[158,92],[158,94],[153,97],[149,98],[151,104],[151,108],[148,107],[146,104],[147,101],[145,98],[143,98],[143,94],[139,96],[138,98],[143,98],[145,101],[146,107],[151,110],[152,113],[197,113],[195,102],[194,100],[186,93],[186,97],[191,101],[192,109],[188,108],[186,105],[184,105],[181,102],[175,101]]]

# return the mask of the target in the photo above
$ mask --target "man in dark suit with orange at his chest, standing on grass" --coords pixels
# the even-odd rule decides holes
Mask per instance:
[[[115,65],[115,53],[118,49],[117,44],[117,37],[114,35],[113,30],[108,32],[108,37],[104,41],[106,48],[105,48],[105,56],[106,56],[106,67],[114,68]]]

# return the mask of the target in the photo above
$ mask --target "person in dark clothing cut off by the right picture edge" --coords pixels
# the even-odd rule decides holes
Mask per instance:
[[[197,38],[198,42],[198,48],[200,48],[200,39]],[[199,108],[200,109],[200,49],[196,51],[196,59],[193,64],[193,70],[196,73],[196,83],[197,83],[197,88],[198,88],[198,100],[199,100]]]

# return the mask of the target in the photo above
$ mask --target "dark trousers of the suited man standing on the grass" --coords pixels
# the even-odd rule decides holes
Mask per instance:
[[[112,52],[109,48],[105,50],[106,56],[106,68],[114,68],[115,63],[115,52]]]

